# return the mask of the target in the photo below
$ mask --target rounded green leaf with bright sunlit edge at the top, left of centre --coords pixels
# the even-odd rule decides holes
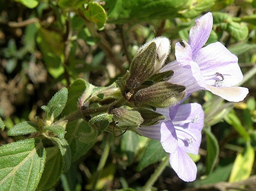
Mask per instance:
[[[84,11],[84,16],[91,22],[97,25],[99,30],[103,30],[107,21],[107,13],[105,9],[96,2],[89,2],[87,4],[86,10]]]

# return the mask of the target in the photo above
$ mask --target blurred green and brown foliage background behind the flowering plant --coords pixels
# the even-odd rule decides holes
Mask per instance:
[[[78,78],[110,85],[129,69],[137,48],[155,36],[172,41],[167,62],[173,61],[175,43],[187,41],[195,18],[210,11],[214,23],[207,44],[220,41],[238,56],[240,85],[249,95],[235,104],[193,93],[188,102],[202,104],[206,115],[201,149],[191,156],[198,178],[183,182],[167,166],[152,190],[256,190],[255,9],[256,0],[1,0],[0,116],[7,129],[33,121],[42,115],[41,105]],[[142,190],[166,157],[159,141],[133,132],[117,138],[104,133],[79,149],[66,136],[71,151],[76,149],[71,168],[39,190]],[[0,132],[0,144],[24,138]],[[102,153],[108,158],[98,166]]]

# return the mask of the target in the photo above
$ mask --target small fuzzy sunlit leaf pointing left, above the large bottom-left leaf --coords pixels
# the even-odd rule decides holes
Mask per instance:
[[[39,128],[36,124],[31,121],[24,121],[14,125],[11,129],[7,131],[8,136],[16,136],[16,135],[25,135],[29,133],[36,133],[39,131]]]

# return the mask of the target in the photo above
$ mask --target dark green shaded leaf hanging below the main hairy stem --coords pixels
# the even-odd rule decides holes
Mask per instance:
[[[85,142],[86,138],[84,138],[84,135],[91,132],[91,126],[82,119],[69,122],[66,131],[65,139],[67,139],[70,145],[72,162],[74,162],[85,155],[95,144],[96,140]]]

